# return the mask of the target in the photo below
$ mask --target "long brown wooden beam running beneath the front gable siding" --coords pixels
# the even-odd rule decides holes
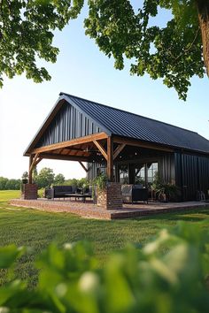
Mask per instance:
[[[97,134],[89,134],[88,136],[72,139],[71,141],[62,141],[62,142],[50,144],[48,146],[33,149],[33,151],[31,151],[31,154],[48,152],[48,151],[55,150],[55,149],[62,149],[66,147],[75,146],[81,143],[92,142],[95,140],[97,141],[97,140],[101,140],[105,138],[107,138],[107,134],[105,134],[104,132],[97,133]]]

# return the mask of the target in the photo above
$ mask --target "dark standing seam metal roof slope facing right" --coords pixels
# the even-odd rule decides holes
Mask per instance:
[[[109,129],[112,134],[209,153],[209,141],[190,130],[74,95],[66,93],[60,93],[60,95],[66,95],[69,103],[76,104],[81,111],[86,112],[89,117]]]

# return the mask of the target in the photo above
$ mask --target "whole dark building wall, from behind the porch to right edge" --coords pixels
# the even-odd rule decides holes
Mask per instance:
[[[203,191],[207,195],[209,190],[209,156],[192,155],[189,153],[175,152],[166,153],[163,156],[156,156],[159,163],[159,176],[166,183],[174,183],[181,190],[180,201],[195,201],[197,200],[197,190]],[[156,160],[155,159],[155,160]],[[151,158],[148,158],[148,162]],[[154,159],[153,159],[154,161]],[[131,169],[136,161],[127,161],[129,164],[129,183],[133,177]],[[138,160],[138,162],[145,162]],[[116,178],[119,180],[118,164],[116,165]],[[102,164],[89,164],[88,179],[93,179],[97,176],[97,168],[102,167]]]

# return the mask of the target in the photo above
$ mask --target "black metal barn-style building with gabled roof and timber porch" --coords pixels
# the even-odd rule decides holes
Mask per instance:
[[[43,158],[84,164],[89,179],[107,172],[121,183],[149,185],[156,172],[191,201],[209,190],[209,141],[151,118],[61,93],[25,151],[29,172]]]

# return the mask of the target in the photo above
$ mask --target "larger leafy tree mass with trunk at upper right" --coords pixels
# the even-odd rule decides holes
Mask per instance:
[[[166,27],[158,26],[161,9],[172,13]],[[90,0],[85,27],[100,50],[115,58],[116,68],[127,57],[130,73],[163,79],[183,100],[190,78],[203,77],[205,68],[209,73],[208,0],[143,0],[136,13],[128,0]]]

